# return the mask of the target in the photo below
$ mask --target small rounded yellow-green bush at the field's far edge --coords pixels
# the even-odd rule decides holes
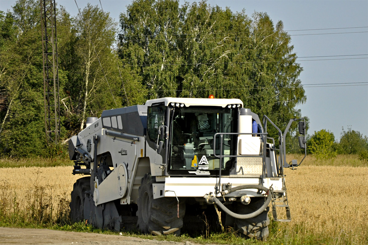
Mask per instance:
[[[315,155],[317,158],[329,159],[337,155],[335,150],[335,136],[325,129],[319,130],[318,132],[314,131],[307,145],[309,153]]]

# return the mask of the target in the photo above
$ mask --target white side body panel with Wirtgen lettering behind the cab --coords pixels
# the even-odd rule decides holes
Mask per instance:
[[[135,163],[139,157],[144,157],[145,155],[144,137],[139,137],[140,141],[136,141],[124,138],[124,136],[134,135],[116,132],[117,134],[120,134],[120,136],[114,137],[106,135],[106,131],[106,129],[102,128],[102,120],[99,118],[78,134],[79,141],[82,144],[81,148],[85,152],[88,152],[86,146],[89,142],[91,142],[91,151],[88,152],[91,162],[94,161],[93,136],[95,135],[98,136],[99,141],[97,145],[97,155],[110,152],[112,157],[112,172],[106,177],[106,179],[102,181],[102,183],[98,183],[98,181],[95,179],[95,191],[93,198],[95,199],[94,201],[96,206],[116,199],[124,199],[124,197],[124,203],[130,202],[129,197],[131,195],[132,185],[134,183],[134,169],[136,167]],[[121,166],[123,165],[124,170],[121,169]],[[93,171],[93,164],[91,164],[91,171]],[[119,177],[120,180],[118,179]]]

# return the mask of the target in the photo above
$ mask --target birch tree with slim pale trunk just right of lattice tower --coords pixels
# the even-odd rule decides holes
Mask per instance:
[[[90,4],[71,23],[67,17],[63,22],[71,29],[60,57],[69,81],[64,86],[66,96],[61,100],[68,112],[67,120],[78,120],[81,130],[87,116],[99,116],[103,109],[121,107],[120,79],[111,50],[116,24],[108,13]],[[74,123],[72,127],[75,126]]]

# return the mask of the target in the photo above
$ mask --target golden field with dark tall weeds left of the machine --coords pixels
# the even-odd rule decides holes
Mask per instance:
[[[67,219],[70,192],[81,177],[72,175],[72,169],[72,166],[1,168],[0,221],[39,225]]]

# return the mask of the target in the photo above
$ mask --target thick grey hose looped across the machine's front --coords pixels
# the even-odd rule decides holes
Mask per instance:
[[[269,191],[268,188],[266,188],[262,185],[240,185],[240,186],[231,188],[229,190],[222,191],[221,193],[224,195],[224,193],[228,194],[228,193],[231,193],[233,191],[244,190],[244,189],[258,189],[258,190],[266,191],[267,193]],[[253,218],[253,217],[256,217],[256,216],[260,215],[267,208],[267,206],[269,205],[269,203],[271,201],[271,198],[272,198],[271,194],[268,193],[268,197],[267,197],[265,203],[263,203],[263,205],[261,206],[261,208],[254,211],[253,213],[248,213],[246,215],[240,215],[238,213],[234,213],[234,212],[230,211],[216,197],[208,197],[208,202],[213,202],[214,204],[219,206],[225,213],[227,213],[228,215],[230,215],[230,216],[232,216],[236,219],[250,219],[250,218]]]

